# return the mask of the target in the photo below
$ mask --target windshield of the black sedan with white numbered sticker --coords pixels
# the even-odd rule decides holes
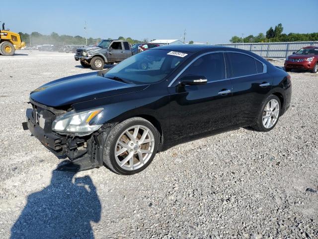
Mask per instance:
[[[151,84],[163,80],[188,53],[169,50],[148,50],[138,53],[111,68],[105,77],[120,78],[135,84]]]

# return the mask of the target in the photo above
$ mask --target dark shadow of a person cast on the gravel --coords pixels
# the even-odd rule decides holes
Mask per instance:
[[[51,183],[28,196],[11,228],[11,239],[93,239],[90,222],[99,222],[101,203],[89,176],[53,171]]]

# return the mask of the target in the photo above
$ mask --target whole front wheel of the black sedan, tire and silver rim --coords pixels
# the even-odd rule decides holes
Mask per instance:
[[[139,117],[127,119],[110,131],[103,160],[115,173],[138,173],[155,157],[158,141],[158,131],[148,120]]]

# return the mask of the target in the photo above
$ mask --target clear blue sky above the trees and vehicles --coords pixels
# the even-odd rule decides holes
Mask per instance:
[[[278,23],[284,33],[318,31],[318,0],[17,0],[12,7],[0,21],[16,32],[84,36],[85,20],[94,38],[179,39],[186,28],[186,41],[227,43]]]

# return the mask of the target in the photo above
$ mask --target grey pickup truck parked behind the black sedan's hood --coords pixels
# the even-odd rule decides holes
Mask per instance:
[[[82,67],[102,70],[105,64],[118,63],[132,55],[128,41],[107,39],[97,46],[78,48],[74,57]]]

